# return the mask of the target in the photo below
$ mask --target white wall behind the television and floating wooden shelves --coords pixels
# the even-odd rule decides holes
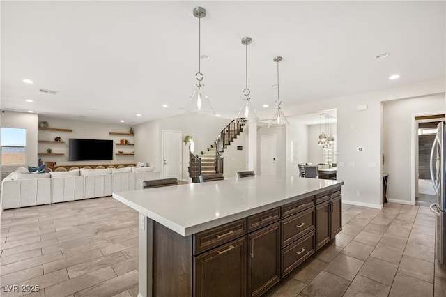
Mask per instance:
[[[47,148],[52,148],[52,153],[63,153],[63,156],[39,156],[44,161],[56,162],[57,165],[82,165],[82,164],[111,164],[111,163],[133,163],[133,155],[113,155],[113,160],[98,161],[68,161],[68,142],[70,138],[81,139],[110,139],[114,141],[114,151],[123,151],[124,153],[132,153],[137,143],[132,136],[109,135],[109,132],[130,132],[130,125],[124,124],[107,124],[94,123],[86,121],[68,121],[64,119],[49,118],[47,116],[38,116],[38,123],[47,121],[49,128],[71,129],[72,132],[59,132],[50,130],[38,130],[39,140],[54,140],[55,137],[61,137],[65,144],[47,144],[37,143],[35,145],[39,153],[46,153]],[[36,127],[38,125],[36,123]],[[116,143],[120,139],[127,139],[128,142],[134,143],[134,146],[117,146]]]

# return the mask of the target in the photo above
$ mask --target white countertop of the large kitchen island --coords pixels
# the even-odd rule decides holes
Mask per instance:
[[[117,192],[113,197],[189,236],[342,184],[328,179],[255,176]]]

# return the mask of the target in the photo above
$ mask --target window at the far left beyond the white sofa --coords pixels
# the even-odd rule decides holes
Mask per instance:
[[[26,164],[26,129],[0,128],[1,165]]]

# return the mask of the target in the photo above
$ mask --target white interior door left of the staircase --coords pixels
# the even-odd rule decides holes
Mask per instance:
[[[162,131],[162,178],[182,178],[182,134],[179,131]]]

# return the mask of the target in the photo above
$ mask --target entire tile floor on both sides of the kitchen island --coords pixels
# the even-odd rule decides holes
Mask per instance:
[[[446,296],[429,208],[343,205],[343,230],[266,296]],[[137,296],[138,214],[112,197],[3,211],[1,296]],[[17,284],[19,292],[11,292]]]

